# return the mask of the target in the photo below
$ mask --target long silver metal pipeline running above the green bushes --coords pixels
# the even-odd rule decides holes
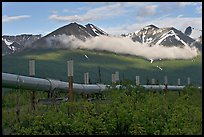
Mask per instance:
[[[172,85],[140,85],[143,86],[146,90],[182,90],[185,86],[172,86]],[[28,89],[36,91],[68,91],[69,85],[68,82],[63,82],[54,79],[42,79],[28,76],[21,76],[9,73],[2,73],[2,87],[3,88],[14,88],[14,89]],[[86,92],[86,93],[99,93],[108,88],[110,85],[104,84],[77,84],[73,83],[73,90],[76,93]],[[116,89],[125,88],[122,85],[116,85]],[[202,89],[202,87],[199,87]]]

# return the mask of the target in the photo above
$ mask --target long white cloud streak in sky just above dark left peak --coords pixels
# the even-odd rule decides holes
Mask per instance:
[[[120,8],[122,5],[120,3],[105,5],[102,7],[97,7],[91,10],[88,10],[85,14],[82,15],[70,15],[70,16],[60,16],[58,14],[52,14],[49,16],[50,20],[55,21],[71,21],[71,22],[89,22],[99,19],[104,19],[108,17],[119,16],[125,13],[124,8]]]

